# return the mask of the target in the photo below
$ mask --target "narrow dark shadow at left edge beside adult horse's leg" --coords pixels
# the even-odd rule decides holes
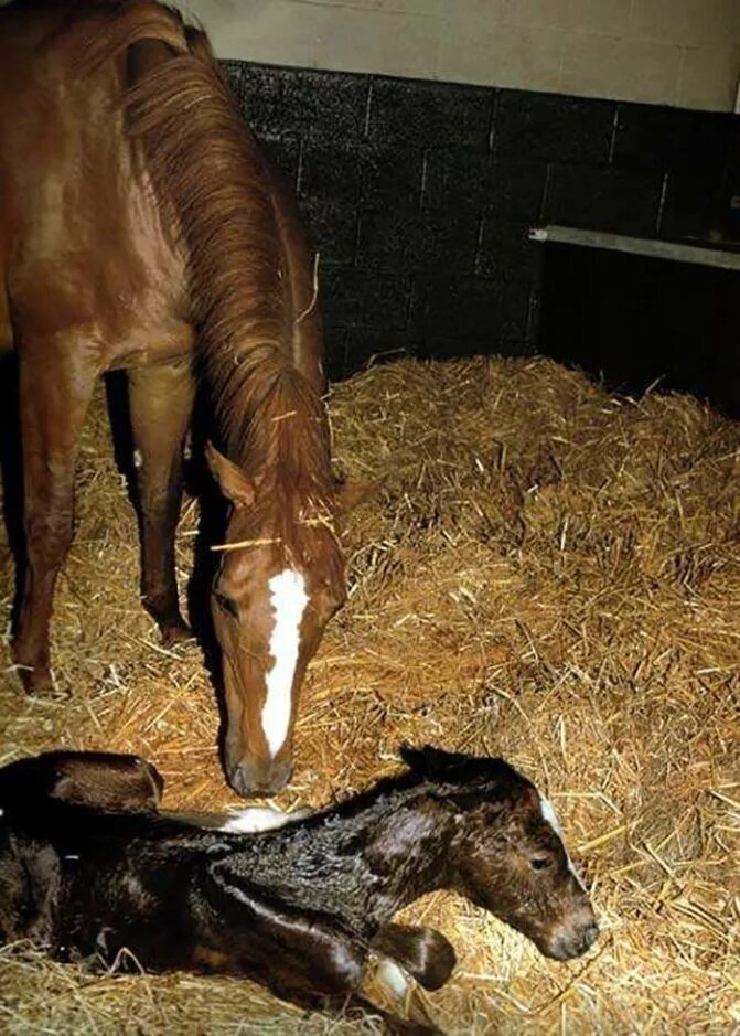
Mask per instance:
[[[18,357],[14,353],[0,354],[0,479],[2,480],[2,520],[15,565],[15,592],[11,608],[13,628],[26,565],[19,402]]]

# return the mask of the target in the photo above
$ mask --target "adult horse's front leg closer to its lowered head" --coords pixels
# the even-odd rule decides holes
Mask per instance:
[[[174,532],[182,499],[183,441],[193,396],[190,360],[129,371],[139,488],[141,595],[165,644],[191,636],[178,602]]]

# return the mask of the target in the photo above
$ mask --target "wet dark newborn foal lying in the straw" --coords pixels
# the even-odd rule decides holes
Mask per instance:
[[[14,762],[0,770],[0,936],[250,974],[314,1003],[358,994],[417,1022],[418,986],[455,963],[444,936],[393,923],[425,893],[461,893],[548,957],[585,953],[593,910],[534,784],[500,759],[401,754],[400,776],[298,818],[158,812],[162,780],[135,756]]]

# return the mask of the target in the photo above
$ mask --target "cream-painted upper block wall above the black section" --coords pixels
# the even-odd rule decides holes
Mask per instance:
[[[217,56],[730,111],[740,0],[181,0]]]

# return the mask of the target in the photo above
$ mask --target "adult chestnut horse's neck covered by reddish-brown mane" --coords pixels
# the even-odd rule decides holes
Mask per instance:
[[[206,36],[150,0],[86,0],[84,9],[83,70],[149,47],[124,97],[128,131],[141,139],[165,223],[185,244],[192,319],[227,452],[329,480],[323,407],[287,348],[296,314],[270,173]]]

